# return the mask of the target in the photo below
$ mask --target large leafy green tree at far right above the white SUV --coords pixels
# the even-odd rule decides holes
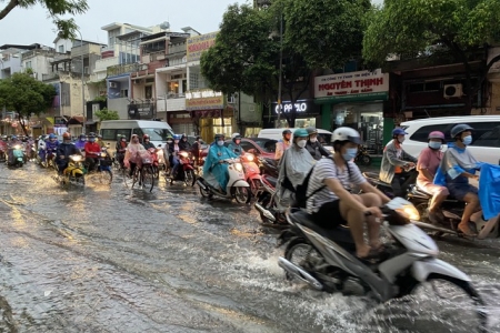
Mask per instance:
[[[466,69],[466,108],[500,56],[486,62],[479,79],[472,84],[470,56],[488,51],[489,43],[500,32],[498,0],[386,0],[370,14],[363,39],[363,58],[373,65],[383,65],[388,56],[447,52]]]

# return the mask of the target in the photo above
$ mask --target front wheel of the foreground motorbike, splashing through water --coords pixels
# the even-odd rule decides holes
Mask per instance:
[[[428,287],[428,284],[430,284],[430,287]],[[434,321],[437,325],[448,324],[446,327],[436,327],[436,332],[454,331],[453,329],[459,326],[467,330],[463,332],[488,332],[488,314],[483,310],[483,306],[486,305],[484,301],[469,282],[433,273],[430,274],[423,283],[416,280],[407,281],[406,285],[400,285],[400,296],[410,294],[412,297],[420,299],[421,296],[421,299],[426,299],[426,302],[419,302],[418,300],[416,300],[416,302],[432,306],[426,311],[424,307],[427,306],[422,307],[419,305],[419,312],[426,311],[429,313],[420,313],[419,317],[412,323],[412,327],[420,326],[420,317],[426,322],[422,323],[422,326],[427,326],[429,324],[428,317],[432,316],[436,317]],[[433,300],[429,300],[430,297]],[[447,297],[446,301],[443,301],[444,297]],[[440,306],[439,304],[442,304],[443,302],[446,304]],[[439,311],[437,311],[437,306],[439,306]],[[457,313],[460,313],[460,315],[458,316]],[[438,315],[444,320],[440,321]],[[460,322],[452,321],[452,319]]]

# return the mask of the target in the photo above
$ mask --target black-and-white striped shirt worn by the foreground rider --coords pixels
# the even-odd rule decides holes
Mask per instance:
[[[349,170],[343,168],[343,171],[334,163],[334,161],[332,161],[332,159],[321,159],[316,163],[311,178],[309,179],[307,191],[307,211],[309,214],[318,212],[320,206],[324,203],[339,199],[336,193],[324,186],[323,181],[326,179],[337,179],[346,189],[350,189],[351,184],[360,185],[367,181],[354,162],[349,161],[348,163]],[[314,195],[310,196],[311,193],[322,186],[324,188],[321,191],[318,191]]]

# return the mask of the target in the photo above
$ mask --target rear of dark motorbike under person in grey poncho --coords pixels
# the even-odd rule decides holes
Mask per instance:
[[[254,204],[262,223],[269,226],[287,226],[287,218],[276,204],[276,183],[278,180],[268,174],[262,175],[262,186],[257,192]]]

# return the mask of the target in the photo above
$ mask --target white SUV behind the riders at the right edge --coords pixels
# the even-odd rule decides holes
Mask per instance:
[[[450,130],[459,123],[474,129],[472,144],[467,148],[474,158],[481,162],[499,164],[500,115],[441,117],[402,122],[401,128],[408,133],[403,143],[404,151],[418,158],[428,145],[427,138],[432,131],[443,132],[447,141],[451,141]]]

